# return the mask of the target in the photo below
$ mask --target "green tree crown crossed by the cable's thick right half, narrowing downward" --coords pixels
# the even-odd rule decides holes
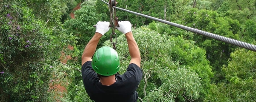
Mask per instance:
[[[220,17],[216,11],[192,8],[184,12],[184,19],[183,22],[192,28],[236,40],[240,39],[238,34],[241,31],[239,22],[228,17]],[[218,73],[215,74],[217,79],[214,79],[214,81],[219,82],[224,79],[224,75],[221,73],[221,66],[227,65],[227,59],[230,58],[230,53],[237,47],[198,34],[194,35],[192,40],[198,46],[206,49],[207,59],[211,62],[213,71]]]

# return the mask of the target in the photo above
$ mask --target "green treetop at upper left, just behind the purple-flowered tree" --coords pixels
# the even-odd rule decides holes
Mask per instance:
[[[27,5],[32,9],[35,18],[48,21],[48,26],[58,26],[61,17],[67,12],[67,0],[15,0],[18,5]]]

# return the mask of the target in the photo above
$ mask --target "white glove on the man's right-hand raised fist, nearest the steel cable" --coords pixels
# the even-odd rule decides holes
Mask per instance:
[[[129,21],[119,21],[119,27],[116,27],[117,30],[121,31],[123,34],[131,32],[131,23]]]

